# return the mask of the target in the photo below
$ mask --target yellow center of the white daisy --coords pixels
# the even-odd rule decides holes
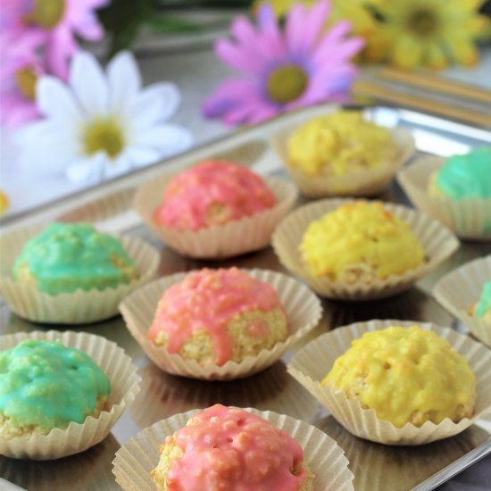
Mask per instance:
[[[124,135],[118,121],[112,118],[101,118],[87,125],[82,142],[87,155],[102,151],[113,159],[121,154],[124,147]]]

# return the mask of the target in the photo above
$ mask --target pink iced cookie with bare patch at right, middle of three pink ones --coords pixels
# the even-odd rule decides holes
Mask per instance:
[[[196,271],[167,289],[148,333],[155,345],[200,365],[241,362],[287,335],[274,289],[237,268]]]

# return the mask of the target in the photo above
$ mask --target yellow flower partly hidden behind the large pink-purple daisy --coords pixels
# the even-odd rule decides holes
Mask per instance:
[[[284,17],[294,4],[312,5],[318,0],[255,0],[253,9],[261,4],[270,4],[278,17]],[[350,21],[352,34],[369,37],[376,28],[376,23],[365,8],[368,4],[378,4],[381,0],[331,0],[332,11],[329,25],[337,21]]]

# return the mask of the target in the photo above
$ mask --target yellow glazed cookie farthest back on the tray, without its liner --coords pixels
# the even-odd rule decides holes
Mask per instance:
[[[390,132],[363,120],[362,113],[355,111],[333,112],[308,121],[295,130],[287,148],[291,164],[310,176],[344,176],[374,169],[397,154]]]

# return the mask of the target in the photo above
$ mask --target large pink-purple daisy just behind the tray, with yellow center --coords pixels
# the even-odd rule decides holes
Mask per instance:
[[[327,30],[329,11],[327,1],[310,9],[295,4],[284,29],[268,4],[258,12],[257,30],[237,18],[231,27],[235,42],[221,39],[215,53],[245,77],[223,82],[204,102],[204,115],[229,125],[254,124],[321,101],[345,102],[356,74],[350,58],[363,41],[346,38],[347,21]]]

